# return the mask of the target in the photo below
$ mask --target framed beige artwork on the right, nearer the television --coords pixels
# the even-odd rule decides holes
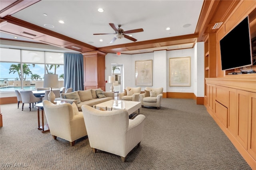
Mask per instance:
[[[169,86],[190,86],[190,57],[169,59]]]

